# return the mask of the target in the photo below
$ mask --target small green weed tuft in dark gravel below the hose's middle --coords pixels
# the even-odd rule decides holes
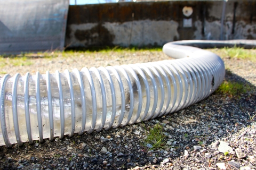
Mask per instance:
[[[165,142],[165,135],[163,133],[163,126],[160,124],[156,124],[153,128],[150,129],[149,133],[147,133],[147,139],[145,139],[145,146],[147,143],[151,144],[153,147],[150,148],[151,150],[154,149],[162,149],[166,146]]]

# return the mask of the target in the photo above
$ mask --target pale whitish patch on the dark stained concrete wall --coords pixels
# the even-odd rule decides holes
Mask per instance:
[[[129,21],[124,23],[105,22],[103,27],[115,35],[113,44],[120,46],[163,45],[179,39],[178,22],[175,21]]]

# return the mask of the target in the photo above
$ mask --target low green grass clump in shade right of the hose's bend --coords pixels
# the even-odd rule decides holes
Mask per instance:
[[[239,96],[245,94],[247,91],[251,91],[249,85],[234,81],[224,81],[217,89],[217,92],[230,96]]]

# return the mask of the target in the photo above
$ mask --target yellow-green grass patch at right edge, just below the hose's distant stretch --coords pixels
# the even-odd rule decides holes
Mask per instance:
[[[256,53],[240,47],[223,48],[224,52],[231,58],[239,58],[242,60],[256,61]]]

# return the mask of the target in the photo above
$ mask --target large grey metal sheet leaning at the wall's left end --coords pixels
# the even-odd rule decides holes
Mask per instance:
[[[69,0],[0,0],[0,54],[62,50]]]

